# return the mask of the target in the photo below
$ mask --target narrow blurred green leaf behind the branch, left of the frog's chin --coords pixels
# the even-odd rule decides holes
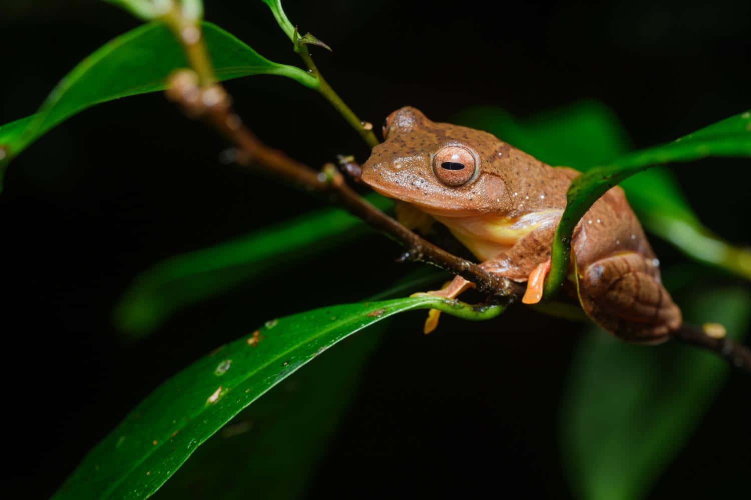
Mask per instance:
[[[391,206],[382,196],[368,199],[382,210]],[[170,257],[134,279],[115,307],[115,324],[130,334],[148,334],[177,310],[345,244],[366,231],[357,217],[327,209],[235,241]]]

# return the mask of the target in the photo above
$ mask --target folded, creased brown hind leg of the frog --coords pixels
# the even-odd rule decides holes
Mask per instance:
[[[636,343],[659,343],[680,327],[680,310],[659,272],[638,253],[600,259],[580,274],[584,311],[605,330]]]

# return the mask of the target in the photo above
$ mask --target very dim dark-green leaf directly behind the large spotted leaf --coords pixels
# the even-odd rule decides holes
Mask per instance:
[[[427,290],[448,278],[444,271],[422,266],[369,300]],[[306,364],[264,394],[201,445],[155,498],[301,498],[354,400],[367,359],[393,321],[348,337],[324,352],[323,360]]]

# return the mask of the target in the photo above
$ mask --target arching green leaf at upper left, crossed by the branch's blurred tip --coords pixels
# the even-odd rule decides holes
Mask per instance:
[[[218,79],[274,74],[318,87],[318,80],[300,68],[269,61],[210,22],[202,26]],[[0,175],[11,157],[71,115],[107,100],[163,90],[170,72],[186,65],[182,47],[161,22],[120,35],[68,73],[36,115],[0,127],[0,147],[6,151]]]

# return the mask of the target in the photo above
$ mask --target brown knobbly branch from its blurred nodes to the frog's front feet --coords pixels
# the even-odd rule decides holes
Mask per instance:
[[[231,100],[220,85],[201,88],[195,72],[179,70],[170,77],[167,97],[182,106],[189,117],[203,118],[233,142],[239,150],[238,163],[260,166],[267,175],[305,190],[327,194],[372,228],[400,242],[406,248],[404,260],[427,262],[459,274],[475,283],[477,289],[490,295],[493,301],[511,303],[523,295],[524,286],[520,283],[488,273],[475,263],[436,247],[375,208],[345,183],[333,164],[318,172],[282,151],[264,145],[232,111]]]

